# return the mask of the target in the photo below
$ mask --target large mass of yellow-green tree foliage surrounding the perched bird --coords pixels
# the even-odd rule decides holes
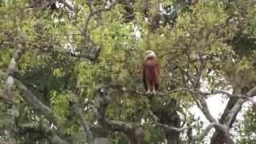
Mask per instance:
[[[18,123],[48,122],[67,140],[83,142],[81,122],[70,102],[74,98],[94,135],[126,142],[126,134],[103,130],[94,114],[95,91],[108,87],[106,117],[136,122],[145,130],[145,143],[160,143],[166,142],[168,133],[152,124],[149,110],[166,125],[174,123],[170,117],[178,111],[187,124],[202,130],[190,114],[190,107],[198,102],[193,94],[171,90],[199,87],[246,94],[256,84],[254,1],[116,1],[110,10],[94,15],[90,15],[92,11],[105,9],[114,1],[69,1],[74,2],[74,10],[63,2],[0,1],[0,70],[7,71],[18,43],[26,42],[14,78],[60,120],[54,123],[32,109],[16,87]],[[100,51],[95,59],[88,58],[94,45]],[[162,66],[162,95],[153,100],[143,95],[139,70],[146,50],[154,50]],[[2,77],[1,98],[4,91]],[[5,126],[11,125],[10,107],[2,101],[0,110],[0,138],[5,138]],[[162,120],[164,115],[170,117]],[[247,142],[253,135],[253,116],[251,110],[246,112],[242,129],[246,135],[239,142]],[[17,134],[18,142],[46,141],[46,136],[33,130],[27,133]]]

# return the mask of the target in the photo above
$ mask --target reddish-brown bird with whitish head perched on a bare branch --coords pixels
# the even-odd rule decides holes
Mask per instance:
[[[157,94],[160,82],[160,67],[157,55],[152,50],[146,51],[146,56],[142,60],[141,72],[147,95]]]

